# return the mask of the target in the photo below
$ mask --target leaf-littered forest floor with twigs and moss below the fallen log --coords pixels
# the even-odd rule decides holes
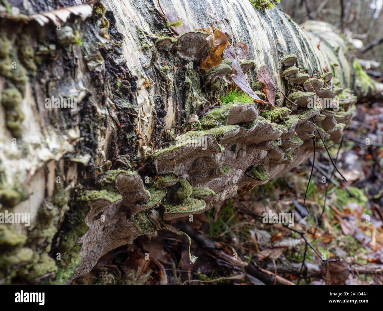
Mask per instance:
[[[173,220],[191,237],[195,264],[189,262],[186,237],[162,230],[151,241],[141,236],[109,252],[72,283],[382,284],[381,120],[383,103],[357,105],[336,162],[347,182],[336,172],[331,177],[326,151],[317,153],[307,190],[309,213],[304,195],[312,158],[283,177],[193,215],[193,221]],[[334,160],[338,149],[339,144],[329,148]],[[294,226],[264,223],[262,214],[269,210],[291,213]]]

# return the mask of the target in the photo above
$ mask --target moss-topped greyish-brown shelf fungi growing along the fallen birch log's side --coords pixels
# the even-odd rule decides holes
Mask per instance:
[[[162,39],[157,41],[161,48],[163,41],[175,43],[170,38]],[[181,50],[177,55],[190,59],[190,51]],[[200,49],[191,50],[197,53]],[[284,101],[284,106],[260,113],[262,106],[246,96],[242,96],[245,101],[239,96],[232,102],[222,102],[200,119],[192,115],[194,127],[151,154],[148,161],[155,174],[147,183],[137,172],[111,170],[99,180],[102,190],[80,196],[90,206],[86,218],[89,229],[79,240],[83,244],[82,262],[75,276],[89,271],[107,251],[132,243],[137,236],[153,237],[157,230],[173,228],[169,221],[174,218],[203,213],[213,203],[289,171],[312,154],[312,138],[319,138],[316,129],[327,147],[339,142],[352,117],[356,97],[350,90],[337,88],[331,74],[309,78],[294,67],[296,61],[295,55],[282,60],[282,76],[294,106]],[[221,81],[232,71],[228,64],[224,59],[204,76],[212,77],[215,72],[215,78]],[[302,90],[293,91],[297,88]],[[255,91],[262,93],[260,90]],[[321,105],[328,98],[338,99],[339,105]],[[324,150],[321,139],[316,140],[316,148]],[[105,222],[94,221],[100,215]],[[195,257],[190,256],[190,260]]]

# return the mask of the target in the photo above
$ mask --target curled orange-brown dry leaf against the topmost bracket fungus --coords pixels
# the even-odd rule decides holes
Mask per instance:
[[[228,38],[226,37],[226,34],[224,34],[219,29],[214,30],[214,33],[208,36],[206,40],[212,40],[213,45],[209,54],[201,59],[200,68],[204,70],[221,64],[221,54],[223,53],[223,50],[228,46]]]

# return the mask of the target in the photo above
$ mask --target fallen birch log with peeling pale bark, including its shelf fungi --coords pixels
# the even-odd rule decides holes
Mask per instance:
[[[31,226],[0,224],[0,283],[86,274],[111,249],[297,166],[317,128],[339,142],[352,117],[345,43],[278,8],[162,0],[169,23],[157,1],[23,3],[0,7],[0,210],[31,213]],[[227,94],[239,67],[226,43],[244,91],[275,109]],[[308,109],[324,98],[339,111]]]

